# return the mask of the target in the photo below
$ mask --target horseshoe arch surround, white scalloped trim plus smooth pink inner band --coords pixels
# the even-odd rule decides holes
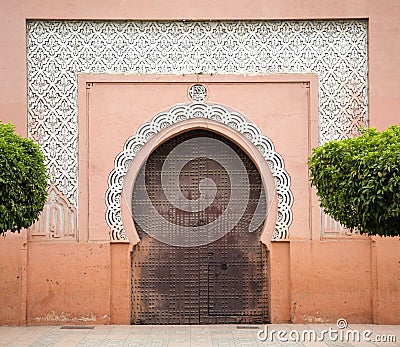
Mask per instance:
[[[268,218],[261,239],[267,243],[287,238],[292,222],[293,195],[284,160],[275,151],[272,141],[262,134],[257,125],[236,111],[220,104],[192,102],[177,104],[156,114],[125,142],[123,150],[115,158],[105,194],[106,221],[110,227],[111,240],[134,242],[132,238],[137,238],[129,213],[130,201],[125,197],[132,197],[133,183],[146,158],[161,143],[196,128],[211,130],[229,138],[256,164],[264,188],[270,189],[268,186],[272,182],[276,194],[269,211],[273,214],[275,204],[276,217]],[[131,165],[133,162],[135,165]],[[127,217],[124,218],[124,215]]]

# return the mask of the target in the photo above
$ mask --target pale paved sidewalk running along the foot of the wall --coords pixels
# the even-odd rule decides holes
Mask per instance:
[[[283,331],[280,333],[280,338],[273,330]],[[324,330],[323,341],[318,341]],[[331,338],[328,336],[328,331],[332,333]],[[360,341],[355,342],[358,334]],[[261,341],[258,335],[265,341]],[[371,341],[366,341],[363,336]],[[313,342],[309,342],[310,338]],[[286,339],[287,342],[284,342]],[[317,341],[314,342],[314,339]],[[378,340],[392,342],[377,342]],[[400,325],[350,324],[345,329],[338,329],[334,323],[269,324],[267,330],[264,325],[103,325],[76,326],[73,329],[60,326],[0,326],[0,346],[400,347]]]

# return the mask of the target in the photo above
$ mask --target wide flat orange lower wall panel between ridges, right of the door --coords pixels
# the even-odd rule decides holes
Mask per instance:
[[[290,243],[296,322],[372,321],[370,240]]]

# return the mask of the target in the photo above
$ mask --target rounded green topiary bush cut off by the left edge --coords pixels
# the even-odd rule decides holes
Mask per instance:
[[[0,122],[0,235],[28,228],[47,199],[47,175],[39,145]]]

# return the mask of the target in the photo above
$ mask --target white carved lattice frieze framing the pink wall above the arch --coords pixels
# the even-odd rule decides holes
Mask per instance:
[[[78,73],[317,73],[324,143],[366,124],[367,52],[366,20],[29,20],[29,135],[77,207]]]

